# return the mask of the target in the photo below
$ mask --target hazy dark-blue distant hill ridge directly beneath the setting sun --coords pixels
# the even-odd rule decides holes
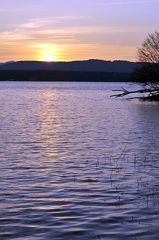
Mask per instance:
[[[0,64],[0,70],[45,70],[132,73],[137,63],[129,61],[87,60],[72,62],[18,61]]]

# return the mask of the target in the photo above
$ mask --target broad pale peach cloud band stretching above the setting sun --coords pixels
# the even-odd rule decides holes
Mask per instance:
[[[57,27],[47,26],[39,27],[39,24],[30,21],[29,24],[22,24],[14,31],[5,31],[1,33],[1,43],[14,43],[28,46],[36,44],[111,44],[111,45],[129,45],[127,34],[133,35],[132,29],[121,27],[105,26],[72,26]],[[46,23],[46,22],[45,22]],[[136,31],[136,29],[135,29]],[[133,39],[133,36],[132,36]]]

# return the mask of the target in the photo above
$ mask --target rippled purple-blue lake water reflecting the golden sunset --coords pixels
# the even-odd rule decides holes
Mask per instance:
[[[120,87],[0,82],[0,239],[159,239],[159,103]]]

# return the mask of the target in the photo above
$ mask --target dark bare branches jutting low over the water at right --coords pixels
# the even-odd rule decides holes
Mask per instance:
[[[112,91],[118,91],[122,93],[111,95],[110,97],[123,97],[128,94],[134,94],[134,93],[148,93],[149,95],[156,95],[159,94],[159,89],[140,89],[135,91],[128,91],[125,88],[122,88],[122,90],[112,90]]]

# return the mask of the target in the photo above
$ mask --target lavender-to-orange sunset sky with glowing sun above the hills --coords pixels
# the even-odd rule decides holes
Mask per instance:
[[[0,62],[136,61],[159,0],[0,0]]]

